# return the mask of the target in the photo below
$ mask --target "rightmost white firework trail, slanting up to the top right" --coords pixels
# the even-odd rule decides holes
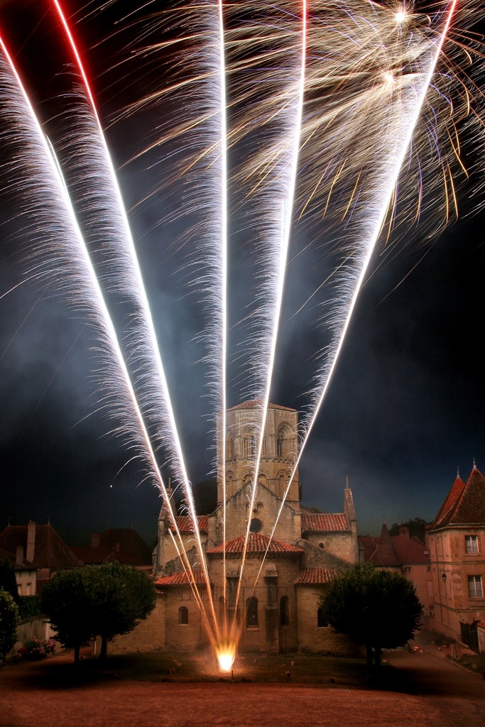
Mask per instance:
[[[319,393],[316,396],[313,412],[308,417],[307,421],[303,425],[302,441],[300,443],[300,451],[298,452],[297,459],[292,468],[292,473],[289,477],[289,481],[286,485],[286,491],[283,498],[283,503],[278,511],[276,521],[271,532],[271,538],[274,535],[278,518],[281,515],[282,507],[284,506],[284,500],[287,497],[289,488],[294,478],[294,473],[297,470],[298,464],[302,457],[302,452],[305,449],[305,445],[308,441],[308,437],[316,422],[316,417],[321,409],[322,403],[326,392],[329,387],[329,383],[332,379],[335,366],[337,365],[337,359],[342,345],[345,340],[345,334],[350,324],[350,319],[353,314],[353,310],[356,305],[358,294],[361,286],[364,282],[364,278],[369,268],[369,262],[372,258],[374,248],[377,244],[377,239],[382,231],[382,226],[385,222],[385,217],[388,214],[388,208],[390,202],[395,194],[396,185],[398,184],[398,177],[401,173],[401,168],[404,164],[406,155],[409,153],[409,147],[412,142],[412,136],[414,134],[417,122],[420,119],[422,113],[422,107],[425,102],[425,97],[430,87],[433,75],[436,71],[436,65],[438,59],[441,57],[444,41],[449,32],[449,27],[452,22],[452,17],[457,6],[457,0],[452,0],[447,6],[446,11],[441,11],[438,20],[441,20],[443,15],[446,15],[443,30],[441,31],[436,41],[433,51],[428,50],[425,53],[425,57],[428,57],[427,68],[424,67],[422,62],[422,70],[419,74],[414,74],[414,82],[410,84],[408,94],[404,100],[401,108],[401,113],[396,119],[396,127],[390,126],[389,138],[388,138],[388,161],[385,164],[385,173],[380,177],[380,181],[374,188],[372,195],[372,201],[366,201],[366,206],[370,206],[374,209],[376,214],[366,222],[361,222],[361,226],[364,228],[365,233],[364,239],[358,243],[355,252],[355,260],[352,267],[348,270],[348,280],[345,285],[345,289],[342,289],[342,300],[343,305],[340,310],[340,316],[337,318],[334,326],[336,329],[336,336],[334,339],[334,345],[332,350],[329,352],[329,361],[326,366],[322,367],[319,374]],[[429,57],[430,56],[430,57]],[[404,92],[402,93],[404,95]],[[381,142],[382,145],[382,142]],[[266,556],[267,553],[265,553]],[[262,566],[261,566],[262,568]]]

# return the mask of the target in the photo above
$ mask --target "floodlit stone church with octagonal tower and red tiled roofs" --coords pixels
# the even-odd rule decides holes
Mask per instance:
[[[326,582],[358,562],[352,492],[348,486],[343,489],[341,513],[309,509],[302,505],[302,486],[296,471],[284,499],[297,454],[297,411],[269,404],[257,491],[252,499],[258,414],[257,401],[241,403],[226,414],[225,542],[222,473],[217,477],[216,509],[198,517],[212,602],[221,618],[227,606],[228,614],[236,612],[241,619],[239,654],[356,654],[356,646],[334,634],[318,609]],[[248,523],[249,541],[238,588]],[[201,598],[207,603],[207,579],[203,577],[194,544],[192,520],[188,516],[177,517],[176,526]],[[144,641],[150,640],[151,648],[192,651],[208,645],[201,609],[177,554],[174,534],[175,526],[164,503],[153,552],[154,582],[159,596],[156,610],[131,635],[115,640],[111,651],[131,650],[129,642],[136,640],[137,633],[139,637],[145,633],[145,638],[137,642],[140,650]]]

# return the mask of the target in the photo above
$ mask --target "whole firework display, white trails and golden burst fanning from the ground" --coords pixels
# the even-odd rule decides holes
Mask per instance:
[[[79,248],[84,249],[84,262],[77,262],[79,253],[69,258],[73,273],[64,286],[84,286],[84,291],[90,291],[76,305],[93,320],[103,321],[98,324],[103,341],[110,341],[103,344],[106,383],[113,375],[110,358],[124,371],[123,385],[118,382],[110,389],[103,405],[123,415],[124,433],[137,442],[137,451],[148,454],[150,476],[167,507],[172,507],[154,452],[161,448],[169,453],[163,467],[184,492],[209,594],[207,609],[179,532],[177,553],[209,638],[217,653],[223,654],[226,668],[231,668],[239,627],[236,622],[228,624],[226,615],[220,624],[215,614],[190,478],[135,243],[95,95],[62,7],[58,0],[52,4],[76,57],[82,87],[71,89],[73,100],[62,115],[65,134],[59,142],[59,164],[69,174],[63,182],[57,169],[57,191],[49,212],[52,206],[69,209],[72,197],[87,229],[88,247],[95,247],[92,258],[86,257],[86,246]],[[150,15],[135,11],[121,20],[117,32],[129,31],[131,39],[126,57],[117,62],[121,82],[131,77],[133,68],[154,81],[135,97],[132,92],[132,99],[116,109],[110,122],[134,123],[146,114],[157,119],[129,160],[132,164],[148,160],[153,176],[159,173],[138,205],[154,197],[168,198],[173,190],[177,193],[174,212],[157,220],[156,226],[164,235],[173,223],[183,228],[166,247],[186,252],[188,289],[204,308],[200,338],[214,412],[212,428],[219,433],[214,467],[223,483],[223,543],[228,390],[231,385],[238,399],[258,402],[257,417],[251,422],[256,435],[248,502],[252,510],[270,390],[284,350],[279,339],[286,284],[295,261],[307,256],[318,261],[308,271],[308,287],[289,315],[298,320],[310,305],[315,307],[313,325],[319,343],[313,377],[305,388],[300,446],[294,452],[283,500],[321,413],[380,239],[388,243],[388,254],[410,225],[420,222],[422,235],[430,237],[457,215],[457,190],[468,177],[458,132],[465,139],[475,134],[478,157],[484,140],[481,93],[475,77],[464,70],[467,63],[481,64],[478,39],[467,30],[478,14],[470,3],[459,5],[457,0],[429,7],[283,0],[277,6],[263,2],[250,8],[201,0]],[[12,83],[8,84],[10,93]],[[165,113],[167,108],[172,113]],[[16,113],[15,123],[22,116]],[[32,116],[29,109],[24,113]],[[38,140],[44,139],[40,126],[36,134]],[[54,152],[44,150],[42,161],[39,151],[24,141],[26,137],[24,132],[15,138],[18,145],[25,143],[29,156],[38,155],[36,174],[39,178],[45,174],[43,165],[52,173]],[[30,188],[25,199],[41,214],[48,197],[49,193],[37,196]],[[73,233],[73,209],[69,215],[71,227],[63,222],[56,233],[60,249],[65,236],[79,241],[80,233]],[[44,216],[46,229],[55,224]],[[231,238],[244,238],[242,253]],[[44,239],[45,235],[39,236],[37,249],[44,249]],[[51,267],[55,261],[59,271],[62,266],[56,254],[55,245],[50,244],[41,260],[48,260]],[[237,265],[244,265],[244,280],[249,280],[241,308],[231,308],[231,255]],[[86,282],[81,286],[76,266],[85,273],[91,260],[91,287]],[[44,275],[46,268],[45,262],[39,263],[38,274]],[[58,279],[59,273],[55,284]],[[131,306],[121,345],[108,309],[99,303],[103,301],[101,284],[108,294],[121,296]],[[96,313],[91,312],[91,297],[101,305]],[[232,359],[228,354],[231,329],[244,339]],[[168,355],[166,350],[163,353]],[[125,398],[116,396],[123,387],[128,387],[130,398],[121,405]],[[127,419],[123,406],[135,411],[136,424]],[[173,510],[170,515],[176,528]],[[271,537],[276,523],[277,518]],[[249,519],[236,602],[248,537]],[[223,563],[225,573],[224,549]],[[223,577],[224,603],[225,582]]]

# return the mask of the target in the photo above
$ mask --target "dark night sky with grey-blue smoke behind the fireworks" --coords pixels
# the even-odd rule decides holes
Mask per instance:
[[[28,87],[54,142],[63,146],[72,124],[63,116],[58,94],[71,81],[68,52],[55,23],[39,15],[41,3],[0,3],[0,23],[12,52],[17,51]],[[46,4],[47,5],[47,4]],[[178,217],[186,188],[157,188],[171,164],[163,145],[151,156],[127,160],[153,134],[160,110],[113,123],[116,111],[142,95],[157,79],[136,63],[116,68],[129,55],[127,36],[114,31],[123,4],[90,14],[100,2],[76,12],[76,32],[94,79],[100,116],[129,212],[143,277],[151,301],[162,358],[175,405],[188,473],[193,483],[214,474],[212,413],[201,330],[207,326],[201,305],[197,233],[200,219]],[[27,12],[28,11],[28,12]],[[28,20],[25,20],[28,18]],[[118,34],[117,34],[118,33]],[[57,40],[56,40],[57,39]],[[108,40],[106,40],[108,39]],[[97,41],[103,41],[98,44]],[[40,55],[39,55],[40,54]],[[107,60],[108,59],[108,60]],[[60,73],[63,69],[65,73]],[[134,70],[135,69],[135,70]],[[117,75],[118,74],[118,75]],[[135,79],[130,86],[126,80]],[[140,81],[137,84],[136,80]],[[126,88],[124,87],[126,85]],[[56,100],[57,98],[57,100]],[[133,526],[152,545],[160,499],[143,465],[129,462],[127,441],[114,435],[119,423],[100,411],[103,371],[96,351],[95,326],[68,305],[53,282],[28,279],[35,258],[35,229],[27,229],[25,199],[12,182],[12,153],[2,104],[0,128],[0,529],[28,520],[52,526],[70,545],[89,542],[89,533]],[[177,109],[167,105],[167,115]],[[67,112],[65,112],[67,113]],[[468,158],[478,140],[467,138]],[[61,154],[62,156],[62,154]],[[20,161],[20,169],[25,166]],[[478,160],[479,161],[479,160]],[[321,510],[342,510],[346,478],[353,490],[361,534],[378,534],[390,525],[420,517],[431,520],[459,467],[467,478],[473,460],[485,470],[485,386],[483,373],[483,245],[485,212],[470,200],[479,182],[479,164],[470,187],[460,190],[460,220],[425,240],[409,226],[391,236],[374,254],[318,421],[300,464],[303,502]],[[180,195],[180,196],[177,196]],[[252,310],[256,281],[248,252],[244,214],[231,228],[231,313],[233,321]],[[428,222],[428,221],[427,221]],[[35,225],[34,225],[35,227]],[[198,229],[198,228],[197,228]],[[318,231],[320,248],[332,236]],[[305,391],[325,339],[316,322],[319,301],[292,317],[321,279],[315,270],[321,252],[305,249],[305,230],[295,229],[281,318],[279,356],[270,399],[305,408]],[[194,252],[196,250],[196,252]],[[249,262],[248,262],[249,261]],[[320,277],[319,277],[320,276]],[[258,289],[260,293],[260,289]],[[125,312],[113,312],[123,321]],[[231,329],[229,404],[251,398],[247,329]],[[324,341],[322,344],[322,340]],[[162,458],[162,455],[161,455]],[[169,474],[168,470],[165,474]]]

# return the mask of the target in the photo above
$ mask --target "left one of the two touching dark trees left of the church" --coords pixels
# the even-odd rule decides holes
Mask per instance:
[[[55,640],[74,648],[74,662],[79,662],[79,650],[89,643],[94,629],[95,599],[90,582],[94,566],[61,571],[44,585],[41,608],[55,631]]]

